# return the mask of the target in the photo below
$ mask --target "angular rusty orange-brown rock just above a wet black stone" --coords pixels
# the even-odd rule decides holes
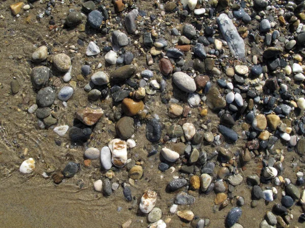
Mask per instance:
[[[83,108],[76,112],[76,117],[78,120],[83,122],[85,125],[92,126],[96,124],[103,116],[104,111],[102,108]]]

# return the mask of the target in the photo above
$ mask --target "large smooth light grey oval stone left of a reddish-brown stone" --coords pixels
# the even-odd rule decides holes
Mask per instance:
[[[196,91],[196,84],[194,79],[192,79],[188,74],[184,72],[173,73],[174,84],[182,91],[193,93]]]

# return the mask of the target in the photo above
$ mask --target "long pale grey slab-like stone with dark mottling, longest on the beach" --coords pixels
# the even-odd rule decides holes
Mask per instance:
[[[244,58],[245,42],[243,42],[242,38],[237,32],[232,20],[225,13],[222,13],[217,18],[217,23],[232,54],[238,58]]]

